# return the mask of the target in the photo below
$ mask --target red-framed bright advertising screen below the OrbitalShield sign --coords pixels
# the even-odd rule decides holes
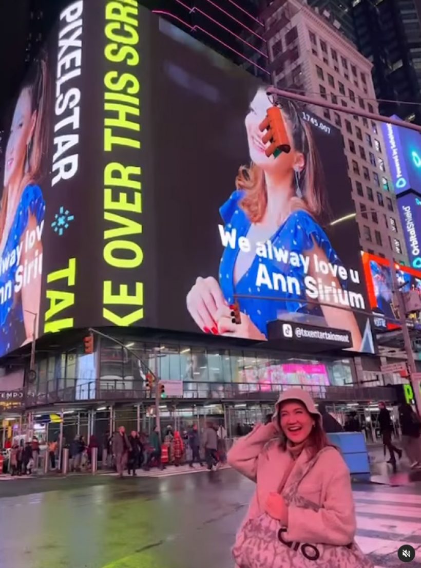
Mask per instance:
[[[393,281],[389,261],[386,258],[362,253],[362,264],[367,284],[370,308],[373,311],[374,326],[380,331],[398,329],[397,311],[393,303]],[[398,285],[402,292],[421,292],[421,270],[395,265]]]

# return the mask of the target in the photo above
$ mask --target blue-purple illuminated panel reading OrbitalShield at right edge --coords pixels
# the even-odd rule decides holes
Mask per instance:
[[[421,197],[412,191],[399,195],[398,209],[411,266],[421,269]]]

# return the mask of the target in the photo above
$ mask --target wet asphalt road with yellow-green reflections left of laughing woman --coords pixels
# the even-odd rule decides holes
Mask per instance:
[[[232,568],[230,547],[252,491],[232,470],[3,482],[0,566]]]

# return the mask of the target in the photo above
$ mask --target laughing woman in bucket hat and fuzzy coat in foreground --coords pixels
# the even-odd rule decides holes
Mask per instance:
[[[274,565],[270,555],[275,553],[285,558],[282,566],[301,566],[295,556],[303,555],[302,547],[291,546],[295,542],[297,547],[299,543],[311,546],[312,557],[326,554],[319,545],[341,546],[344,554],[355,551],[361,556],[361,561],[347,566],[372,566],[354,546],[345,550],[356,533],[351,477],[339,450],[329,444],[322,417],[308,392],[282,392],[272,422],[258,424],[248,436],[240,438],[228,453],[228,463],[256,483],[233,550],[241,568],[247,568],[241,554],[250,538],[255,544],[247,552],[261,554],[261,566]],[[261,527],[266,527],[263,547],[259,541]],[[273,538],[273,546],[268,538]],[[276,566],[280,565],[278,561]]]

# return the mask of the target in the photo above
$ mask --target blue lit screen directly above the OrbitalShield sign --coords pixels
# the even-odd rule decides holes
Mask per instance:
[[[421,192],[421,135],[389,123],[382,123],[382,130],[395,193],[409,189]]]

